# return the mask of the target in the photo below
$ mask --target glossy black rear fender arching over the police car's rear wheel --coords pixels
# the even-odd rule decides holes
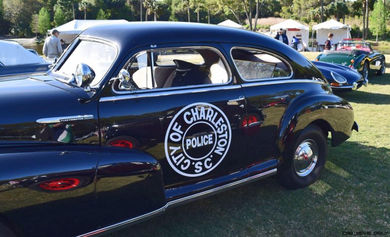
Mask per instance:
[[[278,153],[294,143],[309,124],[323,124],[331,131],[332,146],[338,146],[351,136],[354,118],[351,105],[334,94],[315,94],[292,101],[280,123]],[[293,146],[293,145],[292,145]]]

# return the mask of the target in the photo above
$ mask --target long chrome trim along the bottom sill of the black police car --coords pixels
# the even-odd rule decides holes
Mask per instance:
[[[78,237],[88,237],[88,236],[93,236],[93,235],[96,235],[96,234],[103,234],[103,233],[105,234],[105,232],[108,231],[108,230],[113,230],[113,229],[118,228],[118,227],[124,227],[127,224],[131,224],[131,223],[135,223],[137,221],[143,220],[143,219],[151,218],[154,215],[162,213],[165,210],[167,210],[168,208],[174,207],[174,206],[176,206],[178,204],[181,204],[181,203],[184,203],[184,202],[187,202],[187,201],[191,201],[191,200],[194,200],[194,199],[197,199],[197,198],[205,197],[205,196],[208,196],[208,195],[212,195],[212,194],[215,194],[217,192],[222,192],[222,191],[224,191],[226,189],[229,189],[229,188],[231,188],[232,186],[235,186],[235,185],[242,185],[244,183],[254,182],[256,180],[264,179],[266,177],[269,177],[269,176],[275,174],[276,170],[277,169],[274,168],[272,170],[269,170],[269,171],[266,171],[264,173],[248,177],[248,178],[243,179],[243,180],[238,180],[238,181],[235,181],[235,182],[232,182],[232,183],[228,183],[228,184],[222,185],[220,187],[216,187],[216,188],[213,188],[213,189],[210,189],[210,190],[207,190],[207,191],[203,191],[203,192],[200,192],[200,193],[197,193],[197,194],[194,194],[194,195],[190,195],[188,197],[184,197],[184,198],[181,198],[181,199],[170,201],[167,204],[165,204],[165,206],[163,206],[163,207],[161,207],[161,208],[159,208],[157,210],[154,210],[152,212],[146,213],[144,215],[138,216],[138,217],[133,218],[133,219],[129,219],[129,220],[125,220],[125,221],[119,222],[119,223],[114,224],[114,225],[110,225],[110,226],[98,229],[96,231],[89,232],[87,234],[80,235]]]

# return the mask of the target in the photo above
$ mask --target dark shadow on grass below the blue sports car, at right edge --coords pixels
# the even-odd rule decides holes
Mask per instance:
[[[333,91],[334,94],[346,99],[349,102],[359,104],[374,104],[374,105],[388,105],[390,104],[390,95],[371,93],[366,91],[348,91],[348,92],[337,92]]]

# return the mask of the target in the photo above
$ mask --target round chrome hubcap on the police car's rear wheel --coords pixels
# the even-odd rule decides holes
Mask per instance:
[[[318,159],[318,146],[313,140],[306,140],[295,150],[294,170],[301,177],[312,172]]]

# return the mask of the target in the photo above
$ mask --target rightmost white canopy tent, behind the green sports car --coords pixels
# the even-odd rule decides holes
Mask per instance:
[[[312,26],[312,38],[314,31],[317,32],[316,41],[319,45],[325,45],[328,34],[333,34],[333,43],[337,43],[343,38],[351,38],[351,26],[330,19],[317,25]]]

